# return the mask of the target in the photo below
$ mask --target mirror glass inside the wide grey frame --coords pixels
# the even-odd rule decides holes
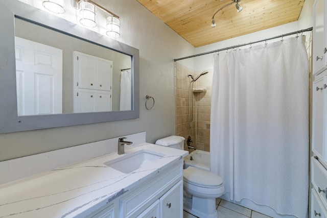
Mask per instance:
[[[15,40],[15,47],[16,47],[16,87],[17,89],[17,99],[18,99],[18,116],[20,115],[37,115],[42,113],[42,109],[45,110],[43,113],[74,113],[74,112],[94,112],[94,111],[87,111],[90,108],[82,108],[83,104],[86,104],[88,102],[81,102],[81,93],[83,91],[88,91],[88,93],[95,92],[94,90],[100,90],[101,93],[108,93],[109,94],[109,101],[108,104],[106,104],[108,107],[107,109],[103,109],[102,111],[121,111],[121,110],[131,110],[131,105],[129,104],[129,108],[123,108],[120,107],[124,105],[124,103],[121,101],[128,101],[130,102],[130,99],[124,98],[121,96],[121,88],[122,95],[125,89],[131,90],[131,85],[129,84],[129,87],[121,87],[121,76],[124,76],[122,72],[126,71],[124,69],[131,69],[132,59],[131,56],[122,54],[110,49],[107,49],[106,47],[90,43],[78,38],[75,38],[73,36],[68,36],[66,34],[60,33],[55,30],[51,30],[49,28],[45,28],[39,25],[36,25],[35,23],[28,22],[26,20],[22,20],[19,18],[15,18],[15,37],[18,37],[19,40]],[[17,42],[18,41],[18,42]],[[26,44],[26,45],[25,45]],[[35,46],[33,46],[35,44]],[[49,47],[50,46],[50,47]],[[37,48],[37,52],[33,52]],[[21,50],[25,50],[24,52]],[[62,57],[60,60],[52,61],[55,59],[55,56],[41,56],[41,58],[38,58],[39,56],[35,57],[35,59],[41,59],[39,61],[47,61],[49,64],[53,65],[53,63],[62,62],[62,68],[60,67],[60,72],[58,77],[62,78],[58,79],[59,85],[56,85],[56,87],[60,87],[57,90],[56,87],[52,86],[53,81],[56,81],[56,74],[53,73],[55,66],[48,67],[48,63],[38,63],[35,64],[36,60],[32,59],[31,57],[34,57],[34,54],[39,54],[40,51],[46,54],[52,54],[52,50],[57,50],[62,53]],[[30,52],[28,52],[31,50]],[[50,50],[50,51],[49,51]],[[88,84],[85,84],[86,88],[82,89],[79,88],[81,85],[77,86],[77,83],[83,84],[83,81],[80,81],[80,77],[78,75],[78,67],[74,67],[74,63],[78,63],[80,60],[74,59],[74,53],[82,53],[87,55],[87,59],[85,61],[91,61],[93,60],[104,60],[104,61],[111,61],[110,66],[108,66],[107,69],[105,69],[108,74],[110,74],[110,78],[108,78],[107,81],[101,81],[103,83],[108,83],[106,88],[102,88],[105,85],[99,84],[99,87],[95,89],[94,87],[90,86],[88,87]],[[22,56],[27,56],[28,54],[31,54],[30,57],[24,58],[19,57],[19,54],[22,54]],[[82,55],[81,54],[81,55]],[[39,54],[42,55],[42,54]],[[92,56],[92,57],[91,57]],[[89,60],[91,58],[91,60]],[[25,62],[19,61],[20,59],[26,60]],[[30,60],[32,64],[26,63],[27,60]],[[84,63],[87,64],[87,63]],[[90,63],[91,64],[91,63]],[[24,70],[24,66],[28,70]],[[33,65],[33,67],[32,67]],[[36,65],[36,66],[34,66]],[[83,63],[81,64],[83,65]],[[22,67],[21,70],[19,68]],[[110,68],[112,67],[112,68]],[[33,68],[36,68],[35,71]],[[51,70],[51,71],[50,71]],[[76,77],[75,72],[76,70]],[[82,69],[83,70],[83,69]],[[31,72],[29,72],[31,71]],[[48,72],[49,71],[49,72]],[[59,71],[59,70],[58,70]],[[37,73],[35,73],[37,72]],[[87,74],[92,74],[92,72],[86,72]],[[35,84],[34,80],[28,80],[28,77],[40,77],[38,75],[43,75],[39,80],[39,83],[41,84]],[[44,75],[47,75],[46,77]],[[94,75],[96,76],[96,75]],[[25,78],[25,80],[20,80],[20,78]],[[86,79],[92,80],[94,78],[89,78],[87,75],[85,76]],[[100,76],[99,76],[100,77]],[[109,76],[108,76],[109,77]],[[51,78],[51,79],[48,79]],[[105,79],[107,79],[105,77]],[[46,84],[49,81],[51,84]],[[32,84],[31,84],[32,83]],[[76,84],[75,84],[76,83]],[[94,84],[93,86],[96,86],[96,82],[89,82],[85,81],[85,83]],[[110,83],[110,84],[109,84]],[[55,83],[56,84],[56,83]],[[58,103],[54,103],[53,105],[56,106],[56,108],[53,107],[46,107],[42,104],[42,98],[39,98],[37,100],[34,100],[34,96],[39,96],[38,93],[30,93],[31,89],[33,89],[34,86],[38,86],[39,88],[37,90],[43,90],[43,95],[46,96],[43,97],[44,104],[51,105],[49,103],[49,99],[57,100],[60,104],[62,103],[62,106],[59,107]],[[100,87],[101,85],[101,87]],[[42,89],[42,86],[46,86]],[[24,88],[23,88],[24,87]],[[49,90],[49,87],[52,87],[51,90]],[[24,89],[28,90],[27,93],[25,93]],[[75,89],[75,90],[74,90]],[[35,90],[35,92],[37,91]],[[49,92],[49,93],[48,93]],[[60,93],[60,96],[56,96],[57,92]],[[25,94],[22,94],[25,93]],[[79,96],[77,96],[79,94]],[[19,96],[22,95],[22,96]],[[32,95],[32,98],[27,98],[28,95]],[[20,97],[20,98],[19,98]],[[24,98],[25,97],[25,98]],[[52,98],[51,98],[52,97]],[[121,99],[122,97],[122,99]],[[104,99],[104,98],[102,98]],[[20,101],[19,101],[20,100]],[[76,104],[75,101],[76,100]],[[93,100],[93,99],[90,99]],[[87,99],[85,100],[87,101]],[[38,103],[38,108],[35,108],[34,105],[35,102]],[[111,104],[110,104],[111,103]],[[99,104],[99,103],[98,103]],[[33,108],[31,109],[31,107]],[[25,109],[26,108],[26,109]],[[25,109],[25,110],[24,110]],[[56,110],[55,110],[56,109]],[[93,110],[96,110],[97,108],[91,108]],[[31,110],[31,112],[29,112]],[[49,110],[49,111],[48,111]],[[97,109],[99,110],[99,109]],[[39,113],[37,113],[39,112]]]

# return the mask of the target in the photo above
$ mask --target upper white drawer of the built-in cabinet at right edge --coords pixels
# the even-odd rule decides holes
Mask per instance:
[[[327,171],[321,163],[311,157],[311,180],[324,206],[327,208]]]

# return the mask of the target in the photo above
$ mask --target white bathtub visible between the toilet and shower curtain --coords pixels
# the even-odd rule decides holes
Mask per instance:
[[[185,169],[189,166],[194,166],[210,171],[210,153],[201,150],[195,150],[184,157],[184,164]]]

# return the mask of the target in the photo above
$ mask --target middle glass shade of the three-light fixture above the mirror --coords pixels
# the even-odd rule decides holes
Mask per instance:
[[[79,2],[80,8],[80,23],[86,27],[97,27],[96,22],[96,6],[92,3],[81,0]]]

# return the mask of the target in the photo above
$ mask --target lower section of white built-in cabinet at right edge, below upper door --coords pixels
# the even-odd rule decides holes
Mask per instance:
[[[327,211],[327,70],[314,76],[312,87],[311,217]]]

